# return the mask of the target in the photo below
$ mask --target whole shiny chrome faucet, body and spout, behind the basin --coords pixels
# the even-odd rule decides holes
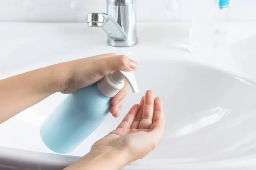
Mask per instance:
[[[87,14],[87,25],[102,27],[108,44],[129,47],[138,42],[136,33],[136,0],[107,0],[107,12]]]

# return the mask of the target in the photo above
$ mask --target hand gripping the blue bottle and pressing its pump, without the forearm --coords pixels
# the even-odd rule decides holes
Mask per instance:
[[[112,71],[134,71],[137,62],[125,55],[103,54],[84,59],[78,59],[60,64],[60,92],[70,94],[91,85]],[[110,112],[114,117],[119,116],[120,109],[130,86],[125,81],[125,87],[111,101]]]

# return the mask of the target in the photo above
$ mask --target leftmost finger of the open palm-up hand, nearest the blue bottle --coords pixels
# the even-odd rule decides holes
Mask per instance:
[[[139,109],[140,109],[139,104],[134,105],[130,109],[130,111],[127,113],[125,118],[122,120],[122,122],[118,125],[117,128],[129,128],[129,127],[131,127],[131,124],[134,121],[135,116],[137,115]]]

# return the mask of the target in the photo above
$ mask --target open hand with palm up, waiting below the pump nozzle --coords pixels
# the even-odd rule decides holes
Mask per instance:
[[[126,150],[130,161],[140,159],[151,152],[164,133],[163,103],[154,99],[153,91],[147,91],[140,101],[127,113],[119,126],[93,144],[99,147]]]

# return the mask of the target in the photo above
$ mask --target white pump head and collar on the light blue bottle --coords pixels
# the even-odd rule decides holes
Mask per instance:
[[[127,80],[129,85],[131,86],[131,90],[134,93],[139,93],[139,89],[137,86],[137,82],[134,77],[133,72],[128,71],[115,71],[112,72],[105,77],[103,77],[99,82],[97,82],[97,86],[99,91],[107,96],[113,97],[115,96],[125,85],[124,79]]]

